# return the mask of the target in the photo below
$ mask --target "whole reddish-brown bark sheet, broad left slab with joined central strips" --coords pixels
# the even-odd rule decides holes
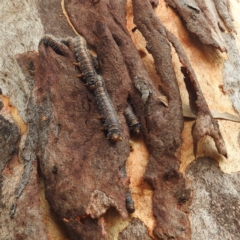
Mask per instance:
[[[39,56],[29,53],[18,59],[25,74],[34,79],[30,114],[34,115],[35,123],[30,132],[38,136],[35,146],[25,149],[23,155],[26,158],[28,151],[37,150],[47,199],[72,238],[106,238],[104,213],[114,207],[123,217],[128,216],[127,185],[121,182],[119,170],[129,155],[123,112],[127,101],[131,101],[150,150],[145,178],[154,189],[157,220],[154,235],[159,239],[186,239],[190,229],[185,205],[190,189],[178,170],[179,160],[175,156],[181,144],[183,116],[170,45],[164,28],[158,22],[148,22],[150,3],[141,5],[133,1],[135,21],[148,40],[147,48],[153,54],[163,91],[169,99],[166,108],[159,104],[159,93],[126,30],[125,4],[125,1],[118,4],[65,1],[72,24],[97,52],[100,73],[122,123],[123,141],[112,144],[99,131],[101,122],[97,120],[93,94],[75,77],[73,48],[70,46],[61,56],[41,44]],[[143,8],[147,10],[145,13]],[[143,26],[150,29],[150,35],[146,35]],[[154,28],[158,32],[154,33]],[[198,87],[194,89],[197,90],[200,92]],[[204,99],[202,102],[208,109]],[[204,112],[200,106],[199,109]]]

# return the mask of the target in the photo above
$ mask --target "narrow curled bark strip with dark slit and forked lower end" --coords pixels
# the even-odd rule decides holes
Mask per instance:
[[[184,75],[184,81],[189,94],[189,104],[193,112],[197,115],[196,122],[192,129],[194,154],[196,155],[197,144],[200,139],[209,135],[214,139],[218,152],[227,157],[227,150],[222,134],[219,130],[219,125],[208,108],[188,57],[177,38],[169,31],[165,31],[168,40],[173,44],[179,60],[182,63],[181,71]]]

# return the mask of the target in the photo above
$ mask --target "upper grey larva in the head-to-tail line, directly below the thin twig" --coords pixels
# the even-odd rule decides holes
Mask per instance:
[[[89,89],[94,90],[97,74],[93,66],[92,57],[87,49],[86,40],[81,36],[75,37],[74,48],[79,68],[83,74],[84,80],[86,81],[86,85]]]

